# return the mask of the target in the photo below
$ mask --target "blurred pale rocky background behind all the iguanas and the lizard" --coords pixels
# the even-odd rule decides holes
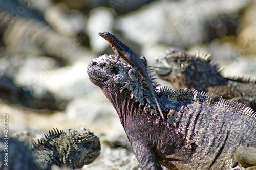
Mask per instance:
[[[139,168],[115,110],[87,75],[93,58],[113,54],[102,31],[149,65],[171,47],[199,50],[225,76],[256,78],[253,0],[0,0],[0,117],[9,115],[9,136],[84,127],[102,152],[83,169]]]

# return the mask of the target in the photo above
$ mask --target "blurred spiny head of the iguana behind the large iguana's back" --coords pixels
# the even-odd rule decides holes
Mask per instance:
[[[154,69],[158,76],[172,83],[175,89],[190,88],[207,91],[211,86],[225,83],[218,65],[211,64],[211,56],[189,55],[170,49],[167,54],[157,59]]]

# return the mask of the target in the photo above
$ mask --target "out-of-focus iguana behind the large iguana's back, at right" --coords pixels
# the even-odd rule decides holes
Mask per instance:
[[[221,95],[256,110],[256,80],[223,77],[209,54],[190,55],[170,49],[165,56],[157,59],[154,70],[159,78],[172,83],[176,90],[189,88]]]

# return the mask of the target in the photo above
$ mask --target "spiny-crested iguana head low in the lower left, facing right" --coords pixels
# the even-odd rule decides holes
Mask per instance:
[[[60,167],[82,168],[100,155],[100,149],[99,138],[83,127],[53,129],[33,144],[33,151],[42,167],[49,166],[45,160],[54,158],[53,164]]]

